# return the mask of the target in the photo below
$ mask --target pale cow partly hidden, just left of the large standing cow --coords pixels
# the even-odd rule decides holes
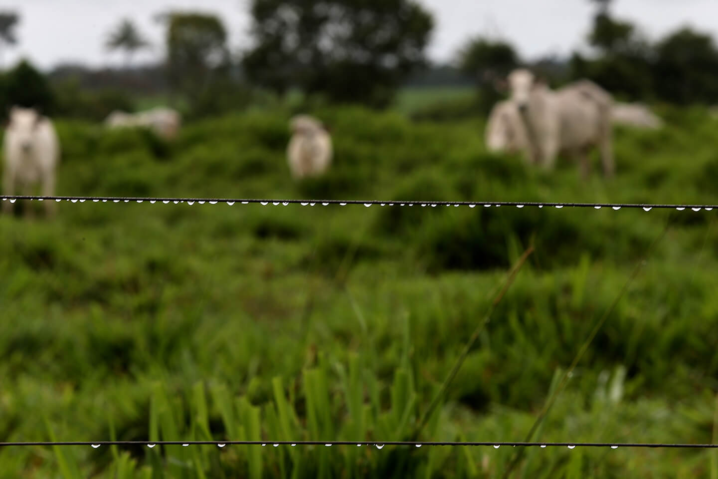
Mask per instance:
[[[521,152],[528,145],[526,129],[516,106],[500,101],[491,108],[485,129],[486,147],[490,152]]]

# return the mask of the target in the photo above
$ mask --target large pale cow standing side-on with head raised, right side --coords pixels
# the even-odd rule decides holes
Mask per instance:
[[[513,70],[507,81],[510,101],[526,129],[529,162],[554,167],[559,153],[579,159],[582,177],[589,174],[588,154],[598,147],[605,176],[613,175],[612,96],[589,80],[551,90],[526,69]]]

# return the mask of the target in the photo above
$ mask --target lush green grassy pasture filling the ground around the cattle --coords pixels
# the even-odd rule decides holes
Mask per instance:
[[[174,144],[57,121],[59,195],[711,203],[718,121],[616,133],[587,183],[485,152],[480,118],[358,108],[327,177],[294,184],[288,113],[188,125]],[[34,204],[34,206],[39,206]],[[508,269],[536,251],[421,440],[712,442],[713,212],[61,203],[0,217],[0,441],[402,440]],[[648,248],[670,220],[627,292]],[[0,449],[0,478],[500,478],[521,448]],[[512,477],[717,478],[704,450],[529,449]]]

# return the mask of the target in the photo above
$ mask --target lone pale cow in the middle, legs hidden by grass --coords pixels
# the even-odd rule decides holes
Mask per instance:
[[[297,115],[289,122],[292,138],[286,149],[292,177],[324,174],[332,162],[332,138],[325,126],[309,115]]]

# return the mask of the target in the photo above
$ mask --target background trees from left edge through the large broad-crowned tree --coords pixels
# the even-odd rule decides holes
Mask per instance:
[[[122,71],[90,72],[65,66],[40,75],[29,62],[4,73],[0,103],[31,103],[45,111],[99,119],[126,106],[130,93],[164,93],[188,118],[246,108],[267,94],[283,101],[294,89],[307,101],[391,104],[396,90],[426,65],[424,50],[434,19],[413,0],[252,0],[252,47],[228,45],[223,19],[193,11],[155,18],[164,28],[159,65],[130,68],[136,52],[149,47],[144,34],[122,19],[106,40],[108,51],[126,53]],[[14,17],[12,17],[14,15]],[[17,42],[17,14],[0,22],[0,42]],[[45,78],[43,83],[42,78]],[[32,77],[21,95],[11,85]],[[48,93],[50,92],[50,93]]]

